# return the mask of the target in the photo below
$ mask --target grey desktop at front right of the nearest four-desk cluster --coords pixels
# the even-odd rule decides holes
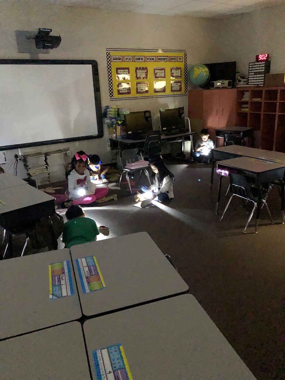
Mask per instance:
[[[94,379],[92,352],[121,344],[134,380],[256,380],[190,294],[87,320],[83,330]]]

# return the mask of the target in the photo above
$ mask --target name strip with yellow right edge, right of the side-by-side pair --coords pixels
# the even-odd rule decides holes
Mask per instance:
[[[82,257],[75,261],[83,293],[106,288],[95,256]]]

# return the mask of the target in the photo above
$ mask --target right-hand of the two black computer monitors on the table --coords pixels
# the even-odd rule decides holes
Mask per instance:
[[[185,129],[184,107],[159,111],[161,133],[169,133]]]

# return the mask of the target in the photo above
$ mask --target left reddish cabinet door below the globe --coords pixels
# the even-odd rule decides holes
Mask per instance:
[[[220,109],[220,91],[204,90],[204,127],[218,128]]]

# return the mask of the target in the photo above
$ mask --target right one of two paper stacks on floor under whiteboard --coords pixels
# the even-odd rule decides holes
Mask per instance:
[[[63,160],[63,150],[53,150],[46,152],[47,170],[49,171],[49,181],[54,182],[64,181],[65,177],[65,162]]]

